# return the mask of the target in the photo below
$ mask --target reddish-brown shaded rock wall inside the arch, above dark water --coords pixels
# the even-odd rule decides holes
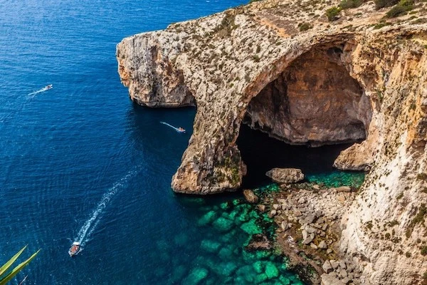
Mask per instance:
[[[251,100],[245,121],[292,144],[362,140],[371,105],[340,61],[342,50],[314,48]]]

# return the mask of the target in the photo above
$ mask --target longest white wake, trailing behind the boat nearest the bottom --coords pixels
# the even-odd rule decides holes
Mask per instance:
[[[135,175],[137,175],[137,170],[131,170],[130,172],[127,172],[125,177],[122,177],[122,179],[115,182],[115,184],[112,185],[112,187],[110,187],[107,192],[105,192],[105,194],[100,199],[100,202],[93,210],[92,215],[89,217],[89,219],[86,220],[85,224],[83,224],[83,227],[81,227],[78,231],[77,237],[74,239],[75,241],[80,242],[82,246],[85,245],[85,242],[88,241],[99,224],[101,217],[100,215],[102,212],[104,212],[105,207],[107,207],[112,197],[116,195],[117,192],[124,189],[127,186],[127,182],[130,180],[130,178],[134,177]]]

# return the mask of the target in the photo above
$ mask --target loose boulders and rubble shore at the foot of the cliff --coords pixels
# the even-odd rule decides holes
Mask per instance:
[[[244,191],[248,202],[257,200],[251,190]],[[258,210],[268,212],[277,227],[274,241],[263,239],[256,249],[274,247],[285,254],[290,269],[307,284],[369,284],[362,270],[342,258],[338,249],[340,221],[356,191],[349,186],[303,182],[281,185],[278,192],[265,193],[257,203]]]

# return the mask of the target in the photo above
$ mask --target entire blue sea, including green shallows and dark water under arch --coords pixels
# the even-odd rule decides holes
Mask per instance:
[[[240,192],[172,192],[196,110],[137,106],[117,74],[122,38],[245,3],[0,0],[0,264],[41,249],[10,284],[304,284],[280,252],[246,250],[274,224]],[[261,195],[278,189],[260,175],[272,166],[363,180],[332,170],[339,147],[286,150],[248,128],[239,141]]]

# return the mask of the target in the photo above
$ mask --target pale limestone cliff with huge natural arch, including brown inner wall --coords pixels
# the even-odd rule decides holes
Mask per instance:
[[[386,10],[371,2],[334,22],[324,16],[328,7],[260,1],[125,38],[117,45],[120,78],[139,104],[197,106],[176,192],[238,189],[246,170],[236,146],[241,123],[294,144],[364,139],[335,162],[371,169],[342,220],[342,253],[371,284],[421,284],[426,4],[379,26]],[[300,31],[303,23],[312,28]]]

